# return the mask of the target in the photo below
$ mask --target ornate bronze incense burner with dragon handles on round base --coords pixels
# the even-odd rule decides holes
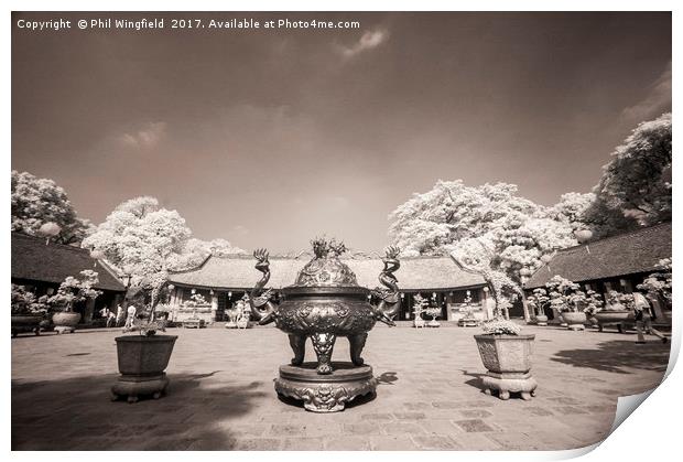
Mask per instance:
[[[289,335],[294,352],[291,365],[280,368],[277,391],[303,400],[308,410],[328,412],[343,410],[356,396],[375,393],[377,379],[360,354],[377,321],[394,325],[392,318],[401,303],[393,276],[400,267],[399,249],[387,249],[379,273],[384,287],[370,290],[358,286],[356,275],[339,259],[346,251],[344,244],[315,239],[312,245],[314,258],[302,268],[294,284],[282,289],[279,304],[272,301],[272,290],[265,289],[270,279],[268,251],[256,250],[256,269],[263,277],[251,291],[250,303],[259,324],[274,322]],[[370,303],[371,293],[378,304]],[[349,341],[350,363],[332,362],[338,336]],[[306,339],[311,339],[317,363],[304,363]]]

